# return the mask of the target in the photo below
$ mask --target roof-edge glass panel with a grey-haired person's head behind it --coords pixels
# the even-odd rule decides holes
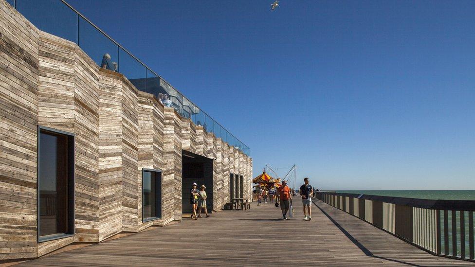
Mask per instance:
[[[79,47],[81,47],[99,67],[110,71],[117,71],[119,46],[99,32],[84,18],[79,18]]]

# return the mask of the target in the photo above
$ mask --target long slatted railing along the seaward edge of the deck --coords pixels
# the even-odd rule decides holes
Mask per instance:
[[[433,254],[475,262],[475,200],[328,192],[319,192],[316,196]]]

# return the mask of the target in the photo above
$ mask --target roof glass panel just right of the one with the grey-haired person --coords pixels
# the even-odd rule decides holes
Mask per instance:
[[[147,69],[137,59],[119,47],[118,71],[135,86],[146,92]]]

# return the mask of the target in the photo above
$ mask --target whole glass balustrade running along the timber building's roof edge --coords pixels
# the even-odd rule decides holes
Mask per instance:
[[[115,71],[124,74],[137,89],[151,93],[156,98],[159,96],[162,98],[166,94],[169,101],[165,102],[162,98],[161,102],[164,106],[174,107],[182,117],[192,120],[195,125],[203,126],[206,132],[214,133],[223,142],[227,142],[248,156],[251,155],[251,150],[247,145],[239,141],[65,0],[7,0],[7,2],[41,31],[76,43],[97,65],[101,66],[104,55],[109,54],[110,62],[117,66]],[[110,14],[106,17],[110,17]]]

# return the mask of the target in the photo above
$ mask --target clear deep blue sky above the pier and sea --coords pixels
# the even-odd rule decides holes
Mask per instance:
[[[69,2],[251,147],[255,176],[475,189],[473,0]]]

